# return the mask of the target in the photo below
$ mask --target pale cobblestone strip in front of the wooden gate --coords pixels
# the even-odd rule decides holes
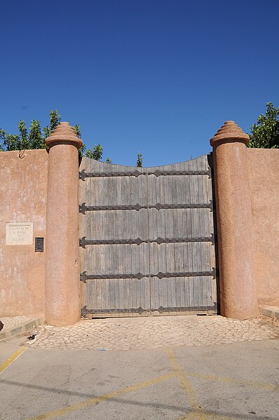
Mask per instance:
[[[72,327],[37,327],[32,348],[135,350],[212,346],[279,338],[276,321],[232,320],[222,316],[165,316],[81,320]]]

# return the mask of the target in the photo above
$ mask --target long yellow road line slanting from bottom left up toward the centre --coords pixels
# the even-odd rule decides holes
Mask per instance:
[[[161,377],[149,379],[149,381],[140,382],[140,384],[137,384],[137,385],[125,386],[125,388],[119,389],[118,391],[113,391],[104,395],[100,395],[100,397],[90,398],[89,400],[77,402],[76,404],[69,405],[68,407],[55,409],[52,412],[41,414],[40,416],[32,417],[32,419],[28,419],[28,420],[54,419],[55,417],[63,416],[64,414],[75,412],[76,410],[89,407],[90,405],[95,405],[98,402],[111,400],[111,398],[116,398],[116,397],[119,397],[120,395],[124,395],[132,391],[138,391],[139,389],[142,389],[142,388],[147,388],[147,386],[158,384],[159,382],[166,381],[167,379],[170,379],[173,377],[175,377],[175,372],[170,372],[168,374],[162,375]]]

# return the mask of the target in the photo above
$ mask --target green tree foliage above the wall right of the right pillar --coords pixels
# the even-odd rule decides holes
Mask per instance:
[[[261,149],[279,148],[279,107],[276,109],[271,102],[266,104],[266,114],[261,114],[257,124],[251,127],[250,141],[247,147]]]

